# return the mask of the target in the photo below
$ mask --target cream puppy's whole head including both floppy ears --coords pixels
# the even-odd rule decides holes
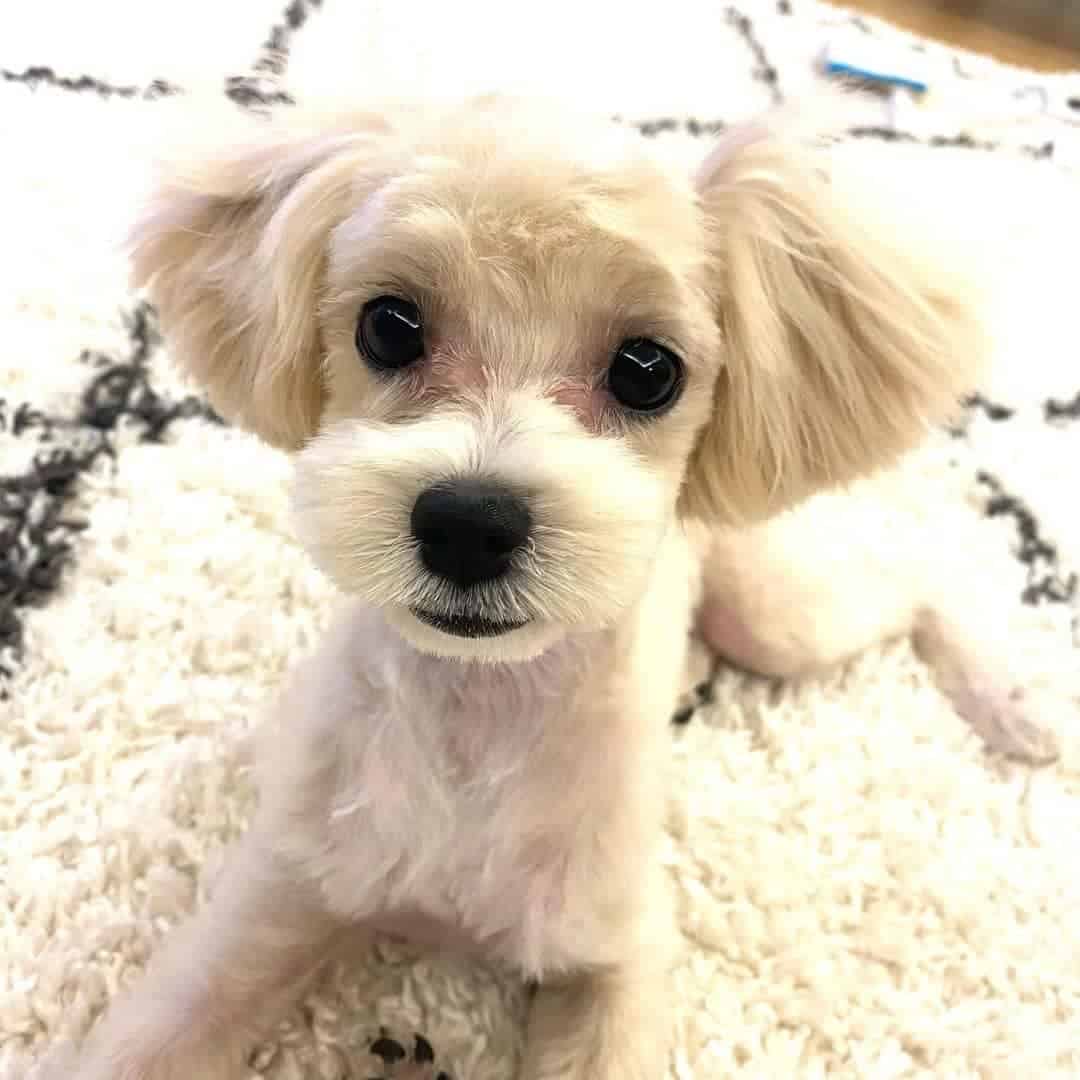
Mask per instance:
[[[775,513],[968,387],[971,312],[808,145],[693,175],[496,99],[241,121],[134,234],[180,362],[296,455],[301,538],[420,648],[611,623],[686,515]]]

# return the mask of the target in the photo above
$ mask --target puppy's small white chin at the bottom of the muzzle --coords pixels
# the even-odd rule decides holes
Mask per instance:
[[[484,663],[524,663],[565,636],[559,626],[543,620],[499,623],[399,606],[388,608],[386,616],[390,625],[421,652]]]

